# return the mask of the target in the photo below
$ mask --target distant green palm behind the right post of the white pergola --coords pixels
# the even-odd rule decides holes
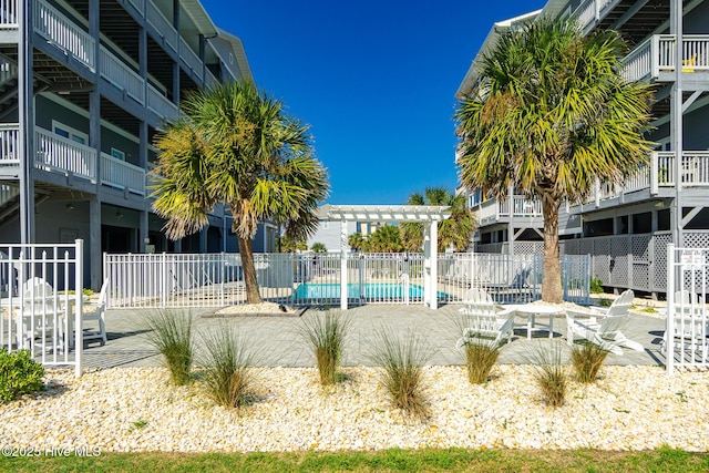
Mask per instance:
[[[413,193],[408,205],[443,205],[451,207],[451,216],[439,223],[439,251],[453,245],[456,251],[467,249],[475,232],[475,216],[465,207],[465,196],[455,195],[445,187],[427,187],[423,195]],[[407,251],[421,251],[423,247],[423,225],[407,222],[401,225],[402,243]]]

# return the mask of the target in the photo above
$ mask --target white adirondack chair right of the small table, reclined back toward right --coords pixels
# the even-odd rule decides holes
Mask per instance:
[[[623,348],[643,351],[640,343],[629,340],[620,329],[628,320],[628,309],[635,297],[631,290],[626,290],[618,297],[607,311],[593,310],[582,312],[566,310],[566,340],[574,345],[574,339],[585,339],[615,354],[623,354]]]

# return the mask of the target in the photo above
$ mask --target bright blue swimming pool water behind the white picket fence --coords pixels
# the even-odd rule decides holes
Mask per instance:
[[[439,297],[445,297],[439,292]],[[403,286],[395,282],[348,284],[347,297],[351,299],[403,299]],[[339,299],[339,284],[302,284],[294,294],[294,299]],[[423,288],[409,286],[409,298],[423,298]]]

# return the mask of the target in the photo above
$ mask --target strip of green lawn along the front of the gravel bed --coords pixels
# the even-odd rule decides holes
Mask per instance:
[[[1,471],[186,472],[707,472],[709,454],[521,450],[388,450],[250,454],[105,453],[94,457],[3,457]]]

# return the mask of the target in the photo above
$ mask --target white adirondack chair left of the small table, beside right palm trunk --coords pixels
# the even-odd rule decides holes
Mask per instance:
[[[467,343],[489,341],[501,343],[506,337],[512,341],[514,329],[514,312],[500,311],[495,302],[483,289],[472,288],[465,292],[465,306],[460,309],[465,328],[455,346],[458,348]]]

